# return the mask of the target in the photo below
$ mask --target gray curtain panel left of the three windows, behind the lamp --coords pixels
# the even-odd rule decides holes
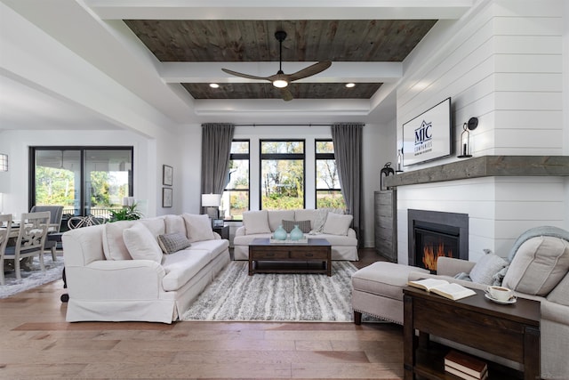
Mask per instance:
[[[233,124],[202,125],[202,194],[222,194],[227,186]]]

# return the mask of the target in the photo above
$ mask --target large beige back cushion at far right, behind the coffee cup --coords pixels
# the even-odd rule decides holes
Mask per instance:
[[[528,295],[548,295],[569,269],[569,242],[551,236],[527,239],[517,249],[502,285]]]

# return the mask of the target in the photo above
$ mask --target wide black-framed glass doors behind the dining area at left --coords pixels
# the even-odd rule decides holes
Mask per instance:
[[[60,205],[65,215],[108,218],[132,197],[132,147],[36,147],[29,162],[30,208]]]

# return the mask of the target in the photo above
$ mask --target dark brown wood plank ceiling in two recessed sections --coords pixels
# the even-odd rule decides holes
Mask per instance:
[[[283,61],[399,62],[437,20],[124,20],[162,62],[278,62],[277,30],[288,36]],[[307,64],[309,66],[309,64]],[[232,69],[230,67],[226,69]],[[284,72],[286,71],[284,65]],[[275,64],[276,74],[278,64]],[[238,71],[238,70],[236,70]],[[246,81],[245,81],[246,82]],[[279,99],[270,83],[182,83],[194,99]],[[294,99],[370,99],[381,82],[292,83]]]

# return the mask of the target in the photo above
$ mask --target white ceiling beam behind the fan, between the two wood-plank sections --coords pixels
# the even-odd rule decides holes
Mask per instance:
[[[314,62],[283,62],[283,70],[293,73]],[[158,74],[165,83],[264,83],[266,81],[234,77],[221,71],[231,69],[257,77],[276,73],[277,62],[164,62]],[[333,62],[325,71],[295,82],[301,83],[389,83],[403,77],[401,62]]]

